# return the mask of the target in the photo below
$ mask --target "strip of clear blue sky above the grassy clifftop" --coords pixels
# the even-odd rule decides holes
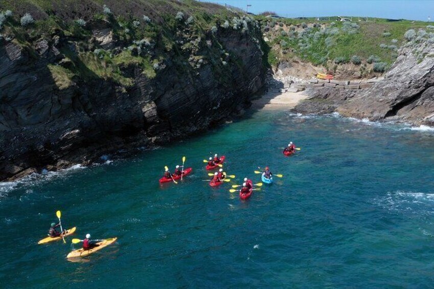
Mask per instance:
[[[273,11],[285,17],[364,16],[434,21],[434,0],[200,0],[229,4],[255,14]]]

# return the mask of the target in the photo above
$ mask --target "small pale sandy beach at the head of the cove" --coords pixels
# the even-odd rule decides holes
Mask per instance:
[[[265,93],[261,98],[252,101],[252,107],[267,109],[289,109],[295,107],[301,100],[309,96],[306,92]]]

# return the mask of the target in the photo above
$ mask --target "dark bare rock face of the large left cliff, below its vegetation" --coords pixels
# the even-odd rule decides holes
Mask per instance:
[[[113,54],[125,52],[110,25],[102,26],[91,27],[86,41]],[[208,31],[190,50],[166,51],[152,77],[134,62],[120,64],[120,74],[132,79],[128,85],[92,71],[87,78],[53,73],[82,64],[76,56],[83,40],[60,33],[30,48],[4,40],[0,181],[88,164],[119,149],[164,144],[240,112],[263,86],[266,71],[259,28],[252,30]],[[176,41],[192,37],[180,33]]]

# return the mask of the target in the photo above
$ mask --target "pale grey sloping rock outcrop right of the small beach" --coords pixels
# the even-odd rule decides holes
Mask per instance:
[[[357,92],[311,89],[302,113],[338,112],[374,121],[434,125],[434,45],[419,38],[408,42],[383,80]]]

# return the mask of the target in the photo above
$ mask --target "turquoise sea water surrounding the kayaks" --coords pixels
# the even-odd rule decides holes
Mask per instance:
[[[292,157],[279,147],[302,148]],[[127,160],[0,185],[0,287],[432,287],[433,131],[262,110]],[[211,188],[203,159],[275,183],[246,202]],[[158,184],[186,155],[193,173]],[[36,244],[62,211],[75,238],[116,244],[69,262]],[[77,245],[75,245],[78,248]]]

